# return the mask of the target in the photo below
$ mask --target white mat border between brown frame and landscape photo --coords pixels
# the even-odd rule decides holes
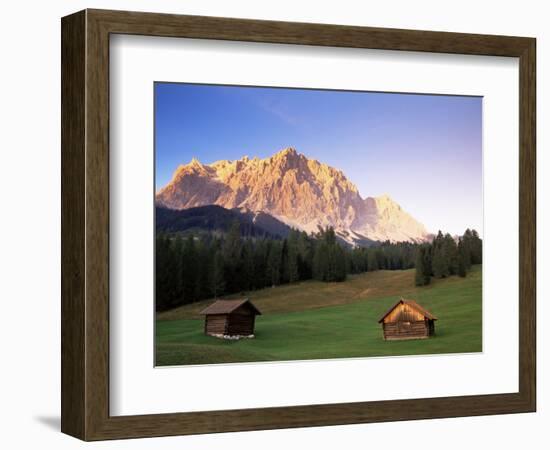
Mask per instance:
[[[112,415],[517,392],[515,58],[121,35],[110,54]],[[484,96],[483,353],[153,368],[153,82],[161,80]]]

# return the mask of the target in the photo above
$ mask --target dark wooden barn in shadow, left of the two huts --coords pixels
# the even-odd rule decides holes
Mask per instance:
[[[204,333],[210,336],[249,337],[254,335],[256,316],[262,314],[247,298],[218,300],[202,310]]]

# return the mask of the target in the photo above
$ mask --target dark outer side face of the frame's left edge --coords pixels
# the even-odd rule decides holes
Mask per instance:
[[[61,430],[84,435],[85,13],[61,27]]]

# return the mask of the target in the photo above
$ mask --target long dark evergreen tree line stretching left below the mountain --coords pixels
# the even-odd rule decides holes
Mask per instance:
[[[410,269],[418,247],[350,248],[332,228],[314,235],[292,230],[285,239],[243,238],[241,232],[236,222],[224,236],[157,234],[157,310],[301,280],[337,282],[348,274]]]

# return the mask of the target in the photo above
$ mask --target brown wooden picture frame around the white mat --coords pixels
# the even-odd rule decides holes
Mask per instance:
[[[85,10],[62,30],[62,416],[84,440],[535,411],[533,38]],[[109,415],[109,36],[136,34],[519,58],[519,391],[140,416]]]

